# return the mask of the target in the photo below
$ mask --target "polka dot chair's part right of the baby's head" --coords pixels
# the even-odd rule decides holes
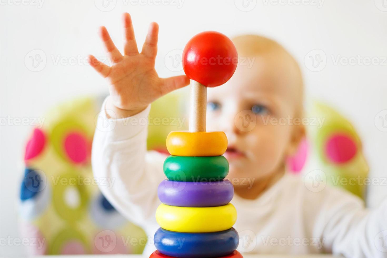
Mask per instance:
[[[353,125],[322,103],[313,103],[308,111],[307,138],[301,142],[297,154],[289,158],[290,171],[320,170],[327,184],[365,199],[368,164]]]

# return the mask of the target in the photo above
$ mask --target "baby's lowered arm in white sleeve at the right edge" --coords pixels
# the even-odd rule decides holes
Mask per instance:
[[[314,202],[313,235],[324,241],[324,249],[345,257],[387,257],[387,201],[376,209],[344,190],[326,187]]]

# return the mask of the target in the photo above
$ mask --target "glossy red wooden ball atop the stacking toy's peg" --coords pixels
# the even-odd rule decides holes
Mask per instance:
[[[216,87],[233,76],[238,63],[236,48],[226,35],[204,31],[195,35],[183,50],[183,69],[189,79]]]

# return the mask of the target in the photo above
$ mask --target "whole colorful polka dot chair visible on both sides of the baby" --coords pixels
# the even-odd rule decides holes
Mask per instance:
[[[185,98],[179,94],[185,92],[168,94],[152,104],[150,117],[167,117],[171,123],[150,122],[148,149],[166,152],[168,133],[187,129],[182,115],[185,104],[179,102]],[[102,98],[89,97],[52,109],[43,127],[35,128],[26,144],[20,226],[24,237],[36,238],[29,246],[29,255],[141,253],[144,248],[144,244],[131,241],[145,240],[144,231],[122,217],[101,195],[98,183],[111,182],[93,181],[90,150],[101,103]],[[289,157],[289,170],[300,173],[302,169],[322,169],[328,183],[364,198],[365,186],[337,185],[331,179],[365,178],[368,174],[353,126],[320,103],[308,117],[324,118],[324,123],[321,128],[307,127],[307,139],[298,153]]]

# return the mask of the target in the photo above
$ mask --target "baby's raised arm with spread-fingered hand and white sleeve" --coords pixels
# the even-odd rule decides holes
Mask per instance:
[[[109,67],[90,56],[90,65],[108,80],[110,92],[94,135],[92,167],[95,177],[112,182],[112,186],[99,186],[104,196],[128,219],[143,225],[149,219],[154,220],[164,159],[156,153],[147,154],[147,120],[143,118],[147,117],[152,101],[188,85],[189,79],[185,75],[158,77],[154,69],[156,23],[149,27],[141,53],[128,13],[123,15],[123,23],[124,54],[118,51],[106,28],[101,27],[101,38],[113,65]]]

